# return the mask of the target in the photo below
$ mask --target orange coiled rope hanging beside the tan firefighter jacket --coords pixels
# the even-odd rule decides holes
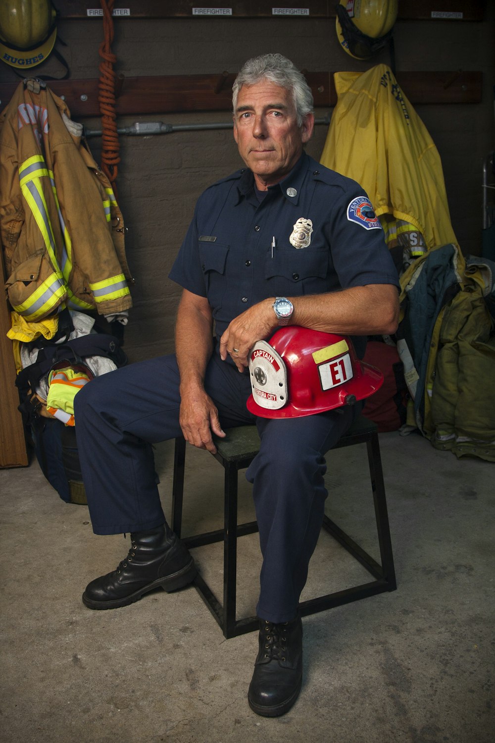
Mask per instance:
[[[114,20],[112,10],[115,0],[99,0],[103,10],[103,30],[105,39],[99,45],[99,111],[102,115],[102,171],[108,177],[117,198],[117,165],[119,157],[119,134],[117,133],[117,114],[115,113],[115,77],[114,64],[117,56],[111,51],[114,41]]]

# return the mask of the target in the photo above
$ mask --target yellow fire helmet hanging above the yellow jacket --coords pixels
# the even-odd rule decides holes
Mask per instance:
[[[370,59],[393,32],[398,0],[340,0],[335,30],[341,47],[355,59]]]

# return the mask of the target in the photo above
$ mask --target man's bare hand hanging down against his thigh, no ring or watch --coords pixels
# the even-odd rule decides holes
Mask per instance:
[[[217,451],[212,439],[212,432],[225,436],[218,420],[218,411],[212,398],[204,390],[180,389],[179,422],[184,438],[198,449],[207,449],[214,454]]]

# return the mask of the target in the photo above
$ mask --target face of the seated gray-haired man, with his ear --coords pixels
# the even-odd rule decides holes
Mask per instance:
[[[234,138],[240,157],[255,174],[258,189],[273,186],[292,170],[315,120],[304,117],[298,127],[292,93],[268,80],[243,85],[237,96]]]

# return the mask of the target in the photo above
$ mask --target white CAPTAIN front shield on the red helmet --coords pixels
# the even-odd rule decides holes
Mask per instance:
[[[252,396],[262,408],[278,410],[287,402],[287,371],[282,358],[266,340],[258,340],[249,354]]]

